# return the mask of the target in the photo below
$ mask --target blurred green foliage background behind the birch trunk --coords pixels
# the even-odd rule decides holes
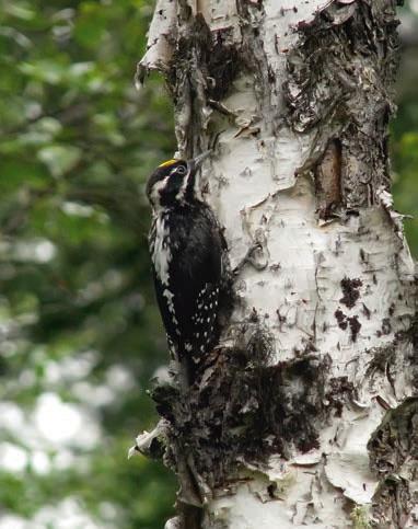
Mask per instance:
[[[0,528],[78,513],[62,527],[158,529],[172,513],[173,478],[126,458],[155,421],[146,389],[166,359],[143,185],[175,150],[172,110],[161,80],[132,87],[152,8],[1,2]],[[392,147],[396,204],[417,215],[407,70]],[[417,253],[416,221],[407,233]]]

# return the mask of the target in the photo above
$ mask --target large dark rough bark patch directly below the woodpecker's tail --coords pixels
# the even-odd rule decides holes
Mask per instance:
[[[336,396],[324,404],[330,359],[306,349],[272,366],[272,347],[266,330],[248,323],[235,347],[208,358],[185,394],[154,391],[158,411],[170,423],[165,460],[177,473],[187,453],[198,475],[214,486],[239,461],[318,447],[318,425],[338,407]]]

